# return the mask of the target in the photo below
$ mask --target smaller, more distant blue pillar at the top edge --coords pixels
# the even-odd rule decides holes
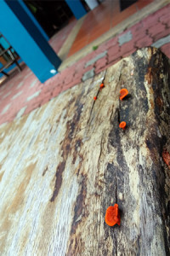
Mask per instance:
[[[77,20],[79,20],[80,18],[82,18],[82,16],[87,14],[87,11],[86,9],[84,9],[80,0],[65,0],[65,2],[70,7],[73,15],[75,15]]]

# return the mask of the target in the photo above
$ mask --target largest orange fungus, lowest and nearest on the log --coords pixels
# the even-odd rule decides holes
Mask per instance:
[[[117,204],[115,204],[114,207],[107,208],[105,213],[105,223],[108,224],[109,226],[121,224],[120,212]]]

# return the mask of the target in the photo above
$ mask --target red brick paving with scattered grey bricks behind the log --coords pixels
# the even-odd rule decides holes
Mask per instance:
[[[30,113],[33,109],[39,108],[54,96],[58,96],[63,90],[68,90],[72,86],[79,84],[82,81],[83,74],[90,69],[95,68],[95,73],[99,73],[115,64],[122,57],[130,55],[136,49],[149,46],[160,38],[170,35],[169,13],[170,4],[120,34],[126,34],[130,31],[133,38],[129,42],[120,46],[118,44],[118,37],[120,35],[116,35],[115,38],[111,38],[104,44],[99,45],[98,49],[89,53],[71,67],[67,67],[61,73],[56,74],[53,78],[48,79],[44,84],[37,80],[29,67],[25,67],[21,73],[17,73],[13,79],[8,79],[0,86],[0,124],[12,121],[21,108],[26,107],[24,114]],[[53,41],[51,44],[53,44]],[[56,46],[54,45],[54,47]],[[105,57],[95,61],[93,65],[85,67],[88,61],[105,50],[107,50]],[[170,58],[170,43],[161,46],[161,51]],[[41,92],[38,96],[31,99],[31,101],[27,101],[28,97],[34,95],[39,90]],[[22,91],[22,94],[13,99],[20,91]],[[10,107],[3,113],[3,109],[8,104],[10,104]]]

